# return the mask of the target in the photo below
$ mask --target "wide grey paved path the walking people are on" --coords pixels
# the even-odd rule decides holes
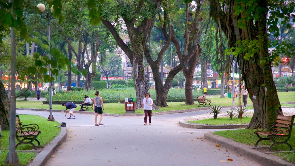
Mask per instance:
[[[49,115],[42,111],[17,113]],[[75,114],[76,119],[64,119],[63,114],[53,113],[55,120],[67,123],[68,133],[45,166],[260,166],[202,138],[204,132],[216,130],[183,128],[178,124],[204,113],[207,111],[154,115],[151,126],[143,125],[143,117],[104,116],[104,125],[94,126],[94,115]],[[220,162],[229,158],[233,161]]]

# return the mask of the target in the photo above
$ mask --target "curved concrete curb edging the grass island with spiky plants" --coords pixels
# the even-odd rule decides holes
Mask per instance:
[[[233,125],[202,125],[191,124],[179,121],[179,125],[185,128],[199,128],[199,129],[232,129],[232,128],[246,128],[249,124],[233,124]]]

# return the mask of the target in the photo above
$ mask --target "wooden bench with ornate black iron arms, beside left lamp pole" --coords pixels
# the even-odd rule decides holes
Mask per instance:
[[[33,141],[36,141],[38,143],[38,147],[41,147],[40,142],[37,140],[37,136],[41,133],[41,131],[38,131],[39,126],[37,124],[23,125],[19,120],[19,115],[16,115],[15,125],[16,139],[19,141],[19,143],[15,146],[15,149],[17,149],[20,144],[31,144],[32,147],[37,150],[36,145],[32,143]]]

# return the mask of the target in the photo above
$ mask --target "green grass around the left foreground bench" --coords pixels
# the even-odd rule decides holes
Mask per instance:
[[[36,123],[39,126],[39,131],[41,133],[37,137],[40,141],[41,146],[45,146],[50,143],[58,134],[60,133],[59,127],[60,123],[57,121],[51,122],[47,121],[47,118],[43,118],[37,115],[19,115],[19,119],[23,124],[32,124]],[[16,144],[18,143],[17,140]],[[38,145],[37,142],[33,142],[35,145]],[[20,145],[16,150],[31,150],[32,147],[29,144]],[[3,162],[6,158],[7,153],[9,152],[9,131],[2,131],[2,139],[1,139],[1,160],[0,165],[3,165]],[[36,157],[35,152],[17,152],[19,157],[19,162],[21,165],[27,165],[28,162]]]

